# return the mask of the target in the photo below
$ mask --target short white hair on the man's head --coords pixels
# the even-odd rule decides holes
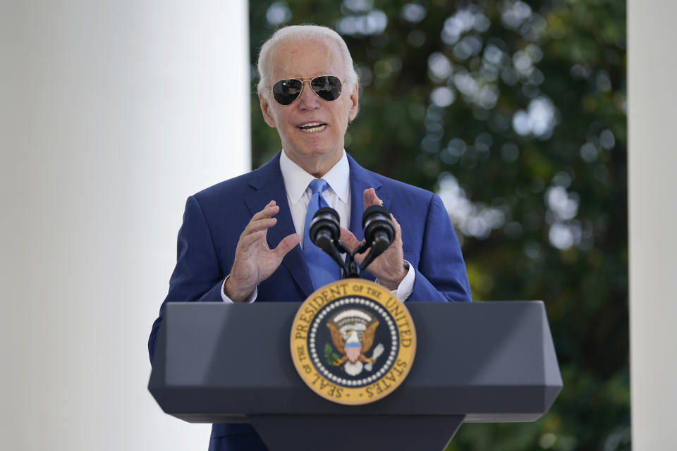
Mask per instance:
[[[343,75],[346,77],[346,80],[343,80],[343,82],[346,82],[350,87],[358,84],[358,73],[355,72],[353,67],[353,57],[350,56],[346,42],[337,32],[329,27],[321,27],[319,25],[290,25],[274,32],[261,46],[259,61],[257,63],[257,69],[259,70],[257,91],[259,94],[264,94],[267,97],[268,89],[270,89],[268,75],[270,70],[270,50],[272,47],[283,41],[305,41],[309,39],[336,43],[341,51],[341,59],[343,60]]]

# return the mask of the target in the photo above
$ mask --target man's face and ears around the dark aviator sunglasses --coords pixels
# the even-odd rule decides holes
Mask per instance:
[[[271,51],[270,85],[285,78],[318,75],[335,75],[346,82],[341,54],[334,42],[281,42]],[[298,99],[290,105],[278,104],[272,94],[260,95],[259,99],[266,123],[277,128],[291,161],[321,177],[341,158],[348,121],[358,113],[357,85],[343,86],[341,96],[334,101],[320,99],[307,81]]]

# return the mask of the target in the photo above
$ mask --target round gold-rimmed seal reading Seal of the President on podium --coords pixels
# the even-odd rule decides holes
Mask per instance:
[[[308,297],[291,328],[291,357],[306,385],[338,404],[367,404],[393,392],[411,369],[416,331],[389,290],[338,280]]]

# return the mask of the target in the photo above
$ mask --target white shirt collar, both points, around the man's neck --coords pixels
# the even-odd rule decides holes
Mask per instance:
[[[291,161],[284,153],[284,150],[280,155],[280,171],[282,172],[284,187],[287,190],[289,200],[291,204],[296,204],[315,177]],[[344,204],[348,204],[348,197],[350,197],[350,164],[348,163],[348,156],[346,156],[346,149],[343,149],[341,159],[334,166],[331,166],[329,172],[324,174],[322,178],[327,180],[329,187],[336,193],[338,198]]]

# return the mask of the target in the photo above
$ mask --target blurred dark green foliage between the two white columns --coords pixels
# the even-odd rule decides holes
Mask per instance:
[[[543,299],[564,388],[539,421],[465,424],[449,450],[629,450],[626,7],[616,0],[252,1],[255,94],[281,25],[333,27],[360,74],[346,149],[439,192],[475,300]]]

